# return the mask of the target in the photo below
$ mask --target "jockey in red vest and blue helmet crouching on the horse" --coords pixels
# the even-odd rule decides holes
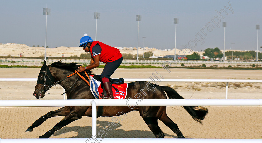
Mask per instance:
[[[109,78],[123,61],[123,57],[119,49],[99,41],[94,41],[91,37],[87,36],[87,34],[85,34],[84,37],[80,39],[79,44],[79,47],[83,47],[85,52],[91,53],[91,61],[90,65],[86,67],[78,67],[78,72],[96,68],[99,66],[100,61],[105,63],[104,70],[100,76],[107,95],[101,96],[101,98],[114,99]]]

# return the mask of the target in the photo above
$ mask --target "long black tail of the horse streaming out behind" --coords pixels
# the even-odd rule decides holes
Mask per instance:
[[[167,96],[169,99],[184,99],[182,96],[180,96],[177,91],[174,89],[168,87],[168,86],[161,86],[163,91],[167,93]],[[202,124],[202,121],[206,114],[208,113],[208,109],[200,106],[183,106],[187,112],[192,116],[192,118]]]

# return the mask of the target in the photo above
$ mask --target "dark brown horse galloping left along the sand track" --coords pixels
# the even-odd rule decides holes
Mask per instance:
[[[64,63],[60,61],[54,62],[47,66],[44,61],[43,66],[38,75],[37,84],[33,95],[39,99],[43,98],[46,91],[55,84],[60,84],[67,92],[67,99],[94,99],[91,93],[89,85],[79,79],[78,75],[68,77],[68,75],[76,72],[79,67],[78,63]],[[92,71],[86,71],[87,75],[93,74]],[[81,73],[81,72],[79,72]],[[84,73],[81,75],[85,78],[87,76]],[[174,89],[168,86],[159,86],[146,81],[135,81],[128,83],[127,97],[126,99],[184,99]],[[138,93],[140,96],[138,96]],[[141,95],[144,95],[141,97]],[[109,99],[101,99],[108,100]],[[184,109],[192,116],[192,118],[198,123],[202,124],[202,120],[208,113],[208,109],[201,106],[183,106]],[[97,107],[99,108],[99,107]],[[97,109],[98,110],[98,109]],[[121,111],[121,112],[120,112]],[[179,130],[176,123],[174,123],[166,113],[166,106],[136,106],[130,108],[128,106],[104,106],[99,116],[116,116],[119,114],[128,113],[130,111],[139,111],[140,116],[143,118],[149,129],[153,132],[156,138],[164,138],[164,133],[158,126],[158,119],[168,126],[178,138],[185,138]],[[49,138],[55,131],[70,124],[71,122],[80,119],[82,116],[92,117],[92,107],[62,107],[55,111],[50,111],[47,114],[37,119],[31,126],[28,127],[26,132],[33,131],[33,128],[41,125],[46,119],[55,116],[65,116],[60,122],[58,122],[51,130],[47,131],[39,138]],[[99,117],[98,116],[98,117]]]

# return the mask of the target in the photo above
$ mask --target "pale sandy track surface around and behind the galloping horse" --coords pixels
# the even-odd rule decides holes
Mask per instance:
[[[40,69],[36,68],[0,68],[0,78],[37,78]],[[117,69],[112,78],[149,78],[157,70],[164,78],[180,79],[261,79],[262,70],[198,70],[198,69]],[[100,74],[102,69],[95,69]],[[186,99],[225,99],[223,83],[167,83]],[[35,100],[33,96],[36,82],[0,82],[0,100]],[[261,99],[260,83],[232,83],[229,85],[229,99]],[[55,86],[46,94],[45,99],[63,99],[61,86]],[[261,107],[207,107],[209,113],[203,125],[197,123],[182,107],[167,107],[167,115],[180,128],[186,138],[247,138],[262,139]],[[37,108],[0,108],[0,138],[38,138],[49,131],[63,117],[53,117],[45,121],[34,131],[26,129],[36,119],[57,107]],[[106,138],[154,138],[138,111],[122,116],[118,126],[112,131],[107,126],[112,117],[99,117],[97,131],[105,130]],[[161,121],[158,124],[165,138],[177,138]],[[91,117],[82,117],[56,131],[51,138],[90,138],[92,134]]]

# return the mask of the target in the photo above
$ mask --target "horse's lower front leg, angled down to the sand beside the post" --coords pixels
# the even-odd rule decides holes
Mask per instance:
[[[55,131],[61,129],[62,127],[70,124],[71,122],[81,119],[84,116],[85,111],[88,107],[73,107],[68,115],[65,116],[63,120],[56,124],[51,130],[47,131],[44,135],[39,136],[39,138],[49,138]]]

